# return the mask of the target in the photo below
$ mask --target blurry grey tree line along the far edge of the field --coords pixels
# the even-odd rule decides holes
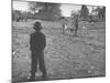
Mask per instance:
[[[13,10],[13,20],[18,18],[32,18],[32,19],[42,19],[42,20],[56,20],[62,15],[61,3],[48,3],[48,2],[29,2],[30,12],[23,13],[21,11]],[[82,20],[92,20],[94,18],[106,19],[106,7],[97,7],[92,10],[97,14],[90,14],[87,6],[82,4],[81,9],[78,11],[79,18]],[[72,15],[75,13],[72,12]],[[18,17],[18,18],[15,18]]]

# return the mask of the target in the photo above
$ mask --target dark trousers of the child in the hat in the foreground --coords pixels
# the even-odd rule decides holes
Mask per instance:
[[[32,75],[35,75],[35,72],[37,71],[37,65],[40,66],[40,71],[43,73],[43,75],[46,75],[46,68],[45,68],[43,51],[41,52],[32,51],[32,63],[31,63]]]

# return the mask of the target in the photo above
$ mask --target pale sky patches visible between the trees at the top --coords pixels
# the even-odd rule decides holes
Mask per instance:
[[[81,6],[76,6],[76,4],[67,4],[63,3],[61,6],[62,14],[64,17],[70,17],[72,10],[78,11],[80,10]],[[89,9],[89,12],[91,12],[92,7],[89,6],[87,7]],[[96,7],[94,7],[96,8]],[[13,9],[15,10],[21,10],[21,11],[29,11],[29,6],[26,1],[13,1]]]

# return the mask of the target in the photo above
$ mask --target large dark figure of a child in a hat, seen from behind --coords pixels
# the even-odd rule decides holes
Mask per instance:
[[[34,23],[35,32],[31,34],[30,39],[30,49],[32,52],[32,63],[31,63],[31,77],[30,80],[35,79],[35,72],[37,71],[37,65],[40,71],[43,73],[42,79],[46,79],[46,68],[44,62],[44,49],[46,46],[45,35],[41,32],[42,25],[40,22]]]

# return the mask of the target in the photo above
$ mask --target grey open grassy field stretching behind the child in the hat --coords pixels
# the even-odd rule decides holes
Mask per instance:
[[[43,23],[46,35],[45,63],[48,80],[76,79],[106,75],[106,24],[80,22],[78,37],[64,35],[61,22]],[[33,21],[13,22],[12,76],[13,81],[26,81],[30,75],[30,34]],[[82,30],[82,27],[87,27]],[[36,80],[41,75],[36,73]]]

